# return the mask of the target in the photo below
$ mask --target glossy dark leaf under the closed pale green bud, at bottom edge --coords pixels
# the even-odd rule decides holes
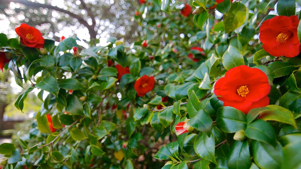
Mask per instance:
[[[248,140],[235,141],[227,158],[229,169],[249,169],[251,165]]]

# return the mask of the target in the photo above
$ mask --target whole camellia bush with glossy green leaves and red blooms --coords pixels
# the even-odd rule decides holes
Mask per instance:
[[[43,101],[0,168],[301,168],[300,1],[140,3],[130,46],[0,34],[14,105]]]

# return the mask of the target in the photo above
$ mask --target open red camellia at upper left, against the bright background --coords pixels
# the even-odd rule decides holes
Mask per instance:
[[[15,31],[20,36],[20,41],[25,46],[38,49],[43,48],[45,40],[38,29],[22,23]]]

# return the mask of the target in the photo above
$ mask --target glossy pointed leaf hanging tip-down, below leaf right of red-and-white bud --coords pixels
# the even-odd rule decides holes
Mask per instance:
[[[204,132],[200,132],[194,141],[193,147],[198,156],[216,164],[214,157],[215,142],[212,135],[209,135],[208,137]]]

